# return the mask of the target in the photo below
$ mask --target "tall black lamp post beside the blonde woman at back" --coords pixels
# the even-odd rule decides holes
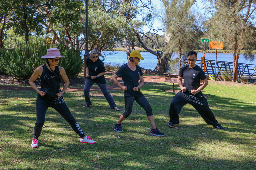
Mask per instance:
[[[86,2],[85,2],[85,7],[86,7],[86,13],[85,13],[86,33],[85,33],[85,36],[86,36],[86,40],[85,40],[85,49],[84,49],[84,55],[83,55],[83,57],[84,57],[83,84],[85,84],[85,80],[86,80],[86,59],[89,57],[89,52],[88,52],[88,1],[89,0],[86,0]]]

